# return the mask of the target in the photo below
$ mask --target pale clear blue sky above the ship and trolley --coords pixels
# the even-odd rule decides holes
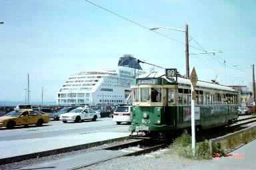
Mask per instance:
[[[249,85],[255,61],[256,2],[253,0],[92,0],[146,27],[183,29],[216,55],[190,58],[201,80],[216,77],[221,84]],[[83,0],[0,1],[0,101],[23,101],[27,73],[31,100],[55,101],[70,74],[115,68],[119,56],[136,58],[185,74],[184,46],[115,17]],[[184,42],[184,34],[159,30]],[[197,46],[195,41],[191,45]],[[200,52],[190,48],[191,53]],[[224,60],[227,66],[224,66]],[[234,66],[237,65],[237,66]],[[241,70],[234,70],[241,69]]]

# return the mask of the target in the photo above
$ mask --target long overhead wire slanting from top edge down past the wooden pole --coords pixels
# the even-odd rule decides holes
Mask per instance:
[[[95,7],[98,7],[99,9],[102,9],[102,10],[104,10],[104,11],[107,11],[108,13],[111,13],[112,15],[115,15],[115,16],[121,18],[121,19],[124,19],[125,21],[128,21],[128,22],[130,22],[130,23],[133,23],[134,25],[137,25],[137,26],[139,26],[139,27],[141,27],[141,28],[143,28],[143,29],[147,29],[147,31],[151,31],[151,32],[153,32],[153,33],[156,33],[157,35],[160,35],[160,36],[162,36],[162,37],[165,37],[165,38],[167,38],[167,39],[170,39],[170,40],[172,40],[172,41],[179,42],[180,44],[184,44],[184,45],[185,45],[184,42],[181,42],[181,41],[179,41],[179,40],[177,40],[177,39],[173,39],[172,37],[169,37],[169,36],[167,36],[167,35],[165,35],[165,34],[163,34],[163,33],[159,33],[159,32],[154,31],[154,30],[149,30],[149,27],[146,27],[145,25],[142,25],[141,23],[138,23],[138,22],[136,22],[136,21],[133,21],[133,20],[131,20],[131,19],[128,19],[127,17],[123,17],[122,15],[119,15],[118,13],[115,13],[115,12],[113,12],[113,11],[111,11],[111,10],[105,8],[105,7],[102,7],[101,5],[97,5],[96,3],[93,3],[92,1],[89,1],[89,0],[85,0],[85,1],[86,1],[87,3],[89,3],[89,4],[91,4],[91,5],[94,5]],[[191,46],[191,45],[189,45],[189,46],[190,46],[191,48],[195,48],[195,49],[197,49],[197,50],[201,50],[200,48],[197,48],[197,47],[195,47],[195,46]]]

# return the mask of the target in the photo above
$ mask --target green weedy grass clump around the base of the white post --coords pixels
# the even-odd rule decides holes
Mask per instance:
[[[191,136],[188,133],[183,133],[177,137],[171,148],[177,155],[188,159],[211,159],[212,155],[209,151],[209,142],[207,140],[195,143],[195,157],[193,157],[191,148]]]

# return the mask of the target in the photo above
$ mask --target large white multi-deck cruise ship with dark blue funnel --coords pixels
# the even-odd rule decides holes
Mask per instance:
[[[144,74],[131,54],[119,58],[115,69],[78,72],[69,76],[57,94],[59,106],[117,106],[129,102],[131,84]]]

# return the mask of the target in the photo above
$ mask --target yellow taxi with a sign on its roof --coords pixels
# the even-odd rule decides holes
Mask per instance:
[[[6,127],[11,129],[14,126],[29,126],[35,124],[36,126],[43,126],[49,122],[49,116],[41,112],[33,111],[32,107],[17,106],[15,111],[5,114],[0,117],[0,128]]]

